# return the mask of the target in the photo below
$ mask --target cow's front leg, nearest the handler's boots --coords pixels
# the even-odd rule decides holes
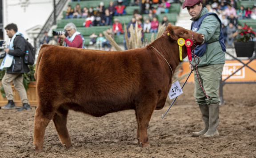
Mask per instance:
[[[147,103],[141,103],[140,105],[136,106],[136,119],[138,123],[137,138],[139,138],[138,143],[141,143],[142,147],[149,146],[147,128],[152,113],[156,107],[153,100],[148,99],[148,101]]]

